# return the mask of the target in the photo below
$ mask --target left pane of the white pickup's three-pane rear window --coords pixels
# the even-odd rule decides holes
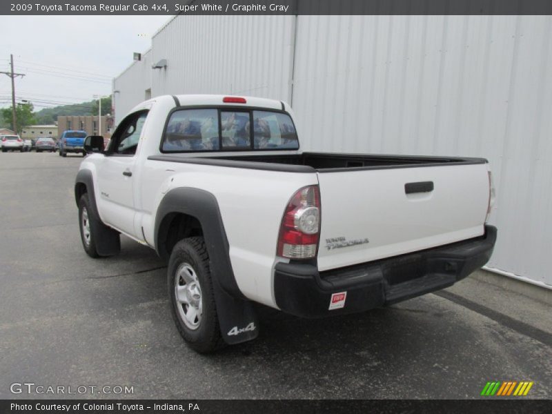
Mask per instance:
[[[216,109],[184,109],[172,112],[161,150],[163,152],[219,149],[219,115]]]

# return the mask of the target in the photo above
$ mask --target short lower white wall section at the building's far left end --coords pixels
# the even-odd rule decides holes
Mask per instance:
[[[151,88],[151,50],[143,53],[141,60],[135,61],[113,80],[113,107],[115,125],[138,103],[146,100],[146,89]],[[115,92],[115,91],[119,92]]]

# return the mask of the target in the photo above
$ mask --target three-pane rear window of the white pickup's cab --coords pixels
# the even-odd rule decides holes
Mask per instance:
[[[297,150],[299,140],[286,112],[186,108],[170,114],[160,149],[161,152]]]

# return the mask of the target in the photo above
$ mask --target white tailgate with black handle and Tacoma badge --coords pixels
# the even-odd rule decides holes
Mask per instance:
[[[483,163],[328,171],[318,179],[320,271],[484,234]]]

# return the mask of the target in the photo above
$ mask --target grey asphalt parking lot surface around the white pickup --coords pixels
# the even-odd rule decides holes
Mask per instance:
[[[121,237],[117,257],[84,253],[80,161],[0,154],[0,398],[479,398],[496,380],[552,398],[550,307],[475,279],[346,317],[259,308],[254,342],[190,351],[153,250]],[[132,393],[10,392],[23,382]]]

